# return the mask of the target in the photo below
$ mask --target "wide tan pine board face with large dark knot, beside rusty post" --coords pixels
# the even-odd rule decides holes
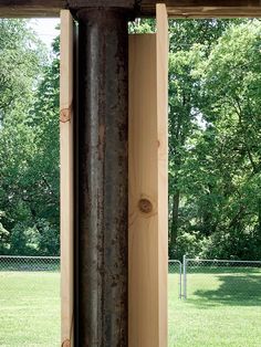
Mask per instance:
[[[129,36],[129,347],[158,347],[156,83],[156,35]]]

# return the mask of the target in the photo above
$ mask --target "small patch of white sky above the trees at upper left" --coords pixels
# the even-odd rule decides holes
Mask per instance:
[[[30,20],[30,27],[36,32],[50,50],[53,39],[59,34],[59,31],[55,30],[55,27],[59,23],[60,19],[58,18],[38,18]]]

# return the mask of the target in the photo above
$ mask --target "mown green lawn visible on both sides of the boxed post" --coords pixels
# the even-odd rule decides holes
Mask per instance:
[[[59,293],[59,273],[0,272],[0,346],[60,346]],[[187,301],[169,274],[169,347],[260,346],[260,271],[188,274]]]

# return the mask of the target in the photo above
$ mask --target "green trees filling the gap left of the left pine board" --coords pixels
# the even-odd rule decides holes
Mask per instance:
[[[0,97],[1,253],[58,255],[59,45],[49,61],[27,21],[0,27],[9,83]]]

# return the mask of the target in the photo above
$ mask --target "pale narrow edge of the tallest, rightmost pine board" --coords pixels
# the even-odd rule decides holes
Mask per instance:
[[[159,346],[168,336],[168,14],[157,4],[157,136],[158,136],[158,295]]]

